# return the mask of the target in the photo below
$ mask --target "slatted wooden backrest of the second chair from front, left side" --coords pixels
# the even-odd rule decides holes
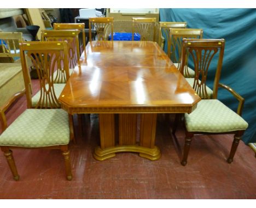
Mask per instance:
[[[79,51],[79,30],[42,30],[42,41],[64,41],[68,42],[68,62],[69,62],[69,75],[72,74],[75,65],[80,58]],[[65,71],[58,68],[54,72],[54,83],[66,83]]]

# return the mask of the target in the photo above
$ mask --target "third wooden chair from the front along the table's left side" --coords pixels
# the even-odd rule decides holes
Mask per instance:
[[[82,32],[83,35],[83,50],[80,50],[79,57],[81,56],[82,52],[85,51],[85,23],[54,23],[54,29],[55,30],[72,30],[72,29],[78,29],[79,32]],[[80,44],[79,44],[80,49]]]

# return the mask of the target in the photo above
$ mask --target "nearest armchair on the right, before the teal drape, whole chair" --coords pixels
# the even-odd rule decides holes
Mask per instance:
[[[248,127],[247,122],[241,117],[245,100],[230,87],[219,83],[224,47],[224,39],[183,39],[181,73],[184,73],[187,56],[190,53],[195,69],[193,88],[195,93],[202,97],[192,113],[184,114],[185,144],[181,162],[183,166],[187,164],[191,140],[197,134],[235,134],[230,155],[227,159],[227,162],[231,163],[238,143]],[[217,59],[217,62],[213,61],[214,58]],[[216,73],[213,96],[210,97],[207,94],[206,81],[209,68],[214,66],[216,67]],[[201,81],[199,82],[200,77]],[[217,99],[219,87],[228,90],[238,100],[236,113]]]

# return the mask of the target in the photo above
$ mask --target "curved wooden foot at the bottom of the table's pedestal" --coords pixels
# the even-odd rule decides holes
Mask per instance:
[[[117,145],[111,148],[101,149],[100,146],[94,151],[94,158],[98,161],[108,160],[118,152],[139,152],[139,156],[155,161],[161,157],[160,150],[157,146],[154,148],[144,148],[138,145]]]

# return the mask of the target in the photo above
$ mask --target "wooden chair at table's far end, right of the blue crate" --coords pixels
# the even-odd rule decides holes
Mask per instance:
[[[155,18],[132,17],[132,40],[134,40],[134,33],[141,35],[141,40],[155,41]]]

